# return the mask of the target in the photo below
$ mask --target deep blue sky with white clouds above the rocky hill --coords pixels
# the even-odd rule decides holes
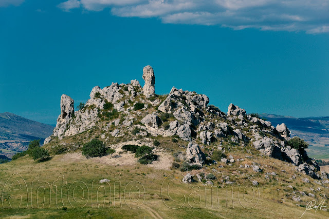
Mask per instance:
[[[155,92],[227,112],[329,115],[329,0],[0,0],[0,112],[56,124],[151,65]]]

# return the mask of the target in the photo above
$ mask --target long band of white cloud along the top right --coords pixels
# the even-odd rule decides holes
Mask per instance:
[[[329,32],[329,0],[69,0],[60,5],[65,11],[110,8],[116,16],[158,17],[172,24]]]

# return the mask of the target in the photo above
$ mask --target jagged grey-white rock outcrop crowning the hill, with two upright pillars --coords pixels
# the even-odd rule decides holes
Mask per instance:
[[[187,160],[201,166],[206,156],[200,148],[211,144],[220,148],[225,141],[232,147],[252,146],[264,155],[295,165],[299,172],[321,177],[318,164],[306,152],[288,146],[290,132],[285,124],[273,127],[270,122],[247,115],[244,109],[233,104],[224,113],[215,106],[208,106],[206,95],[175,87],[169,95],[156,95],[151,66],[144,67],[143,79],[143,88],[136,80],[129,84],[112,83],[103,89],[96,86],[84,108],[78,111],[74,111],[73,99],[63,94],[56,128],[45,144],[52,138],[61,139],[94,127],[106,133],[115,126],[115,130],[109,132],[114,137],[179,137],[187,142]],[[138,132],[132,133],[133,130]],[[105,135],[102,138],[107,141]]]

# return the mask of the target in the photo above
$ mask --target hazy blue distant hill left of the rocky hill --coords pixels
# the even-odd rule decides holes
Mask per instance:
[[[35,139],[43,143],[53,128],[10,112],[0,113],[0,154],[11,157],[16,151],[26,150],[28,142]]]

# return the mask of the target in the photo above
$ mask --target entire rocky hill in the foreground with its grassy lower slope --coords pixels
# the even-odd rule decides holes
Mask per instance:
[[[301,140],[291,143],[285,124],[274,127],[233,104],[223,112],[205,94],[175,87],[157,95],[151,66],[143,79],[143,87],[136,80],[96,86],[77,111],[63,94],[44,146],[0,165],[3,206],[15,206],[2,215],[327,218],[326,206],[305,207],[327,201],[329,174]],[[38,151],[42,159],[32,161]],[[40,198],[38,182],[47,188]],[[33,195],[20,190],[24,184]]]

